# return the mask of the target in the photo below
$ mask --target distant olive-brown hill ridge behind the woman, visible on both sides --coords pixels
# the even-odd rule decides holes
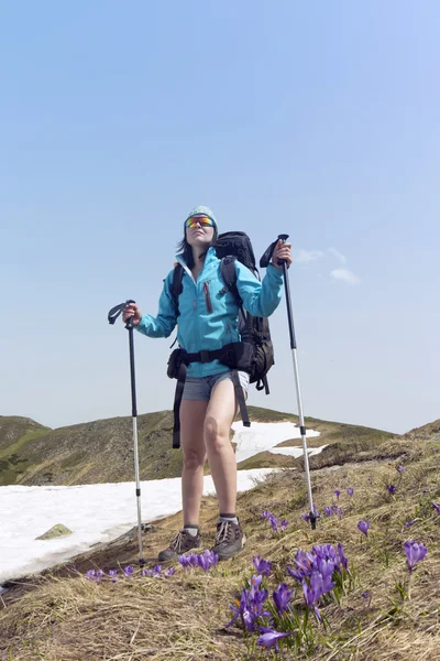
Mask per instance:
[[[255,422],[298,422],[296,415],[249,407]],[[2,424],[3,421],[3,424]],[[340,464],[353,453],[366,452],[393,434],[369,427],[306,419],[320,431],[310,446],[328,444],[312,458],[312,467]],[[173,413],[160,411],[138,418],[141,479],[177,477],[182,452],[172,448]],[[283,445],[299,445],[300,438]],[[240,464],[240,468],[301,466],[300,459],[268,452]],[[132,419],[112,418],[50,430],[24,418],[0,418],[0,486],[79,485],[133,479]]]

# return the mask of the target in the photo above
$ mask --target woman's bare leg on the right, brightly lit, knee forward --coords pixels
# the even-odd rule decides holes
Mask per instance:
[[[205,418],[204,436],[220,512],[235,513],[237,462],[229,438],[235,416],[235,391],[226,379],[215,386]]]

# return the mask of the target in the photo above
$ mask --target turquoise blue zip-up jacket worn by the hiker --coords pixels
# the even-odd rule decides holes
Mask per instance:
[[[157,316],[144,314],[135,328],[148,337],[168,337],[177,324],[177,342],[188,353],[220,349],[231,342],[240,342],[239,307],[234,295],[227,290],[220,272],[221,260],[215,248],[209,248],[197,282],[183,256],[176,257],[184,268],[179,314],[170,294],[174,270],[164,281]],[[239,260],[235,260],[237,289],[243,307],[254,316],[270,316],[278,306],[283,291],[283,271],[268,264],[262,282]],[[218,360],[191,362],[188,377],[208,377],[229,371]]]

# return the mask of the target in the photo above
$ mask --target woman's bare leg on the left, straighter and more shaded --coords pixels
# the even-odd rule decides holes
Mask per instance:
[[[182,501],[184,524],[199,522],[204,492],[204,467],[207,459],[204,441],[204,421],[209,402],[182,400],[180,443],[184,453],[182,472]]]

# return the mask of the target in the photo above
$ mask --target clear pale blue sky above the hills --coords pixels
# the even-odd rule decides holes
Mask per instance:
[[[130,415],[128,297],[155,314],[211,206],[260,256],[294,243],[305,413],[440,418],[440,7],[373,0],[0,8],[0,414]],[[296,411],[283,301],[272,394]],[[170,340],[136,335],[140,412]]]

